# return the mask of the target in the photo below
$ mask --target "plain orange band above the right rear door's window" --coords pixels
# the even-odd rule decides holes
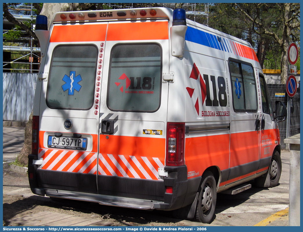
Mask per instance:
[[[107,41],[168,39],[168,21],[109,23]]]

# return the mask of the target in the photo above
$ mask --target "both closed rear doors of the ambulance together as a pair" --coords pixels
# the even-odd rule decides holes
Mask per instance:
[[[54,25],[40,101],[43,187],[123,195],[104,178],[161,181],[168,51],[168,20]]]

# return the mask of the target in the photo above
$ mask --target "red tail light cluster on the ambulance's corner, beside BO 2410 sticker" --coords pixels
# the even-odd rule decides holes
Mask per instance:
[[[166,134],[166,165],[184,165],[185,123],[168,122]]]

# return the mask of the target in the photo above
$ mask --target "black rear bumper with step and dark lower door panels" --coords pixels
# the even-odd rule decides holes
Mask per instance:
[[[135,209],[175,210],[191,204],[201,177],[187,179],[187,167],[166,166],[168,177],[147,180],[39,169],[28,156],[28,178],[33,193],[102,205]],[[166,193],[172,186],[173,193]]]

